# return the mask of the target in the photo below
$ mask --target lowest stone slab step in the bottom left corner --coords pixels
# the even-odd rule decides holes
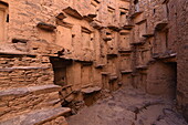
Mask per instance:
[[[69,107],[52,107],[36,110],[34,112],[15,116],[11,119],[3,121],[0,125],[45,125],[48,123],[55,125],[67,125],[65,118],[62,116],[70,112]],[[53,119],[58,122],[53,122]]]

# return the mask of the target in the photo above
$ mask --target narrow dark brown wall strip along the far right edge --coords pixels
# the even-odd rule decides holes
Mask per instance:
[[[187,41],[188,41],[188,1],[178,0],[171,1],[177,3],[176,8],[176,21],[177,21],[177,48],[178,48],[178,86],[177,86],[177,100],[179,106],[182,108],[185,117],[188,119],[188,65],[187,65]],[[171,6],[173,8],[173,6]],[[175,8],[175,7],[174,7]]]

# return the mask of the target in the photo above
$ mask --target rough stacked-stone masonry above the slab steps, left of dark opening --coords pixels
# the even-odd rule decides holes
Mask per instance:
[[[0,88],[53,84],[53,70],[45,58],[1,56]]]

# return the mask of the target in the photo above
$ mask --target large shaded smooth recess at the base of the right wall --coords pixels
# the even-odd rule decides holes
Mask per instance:
[[[177,63],[156,62],[150,65],[147,75],[147,92],[176,98]]]

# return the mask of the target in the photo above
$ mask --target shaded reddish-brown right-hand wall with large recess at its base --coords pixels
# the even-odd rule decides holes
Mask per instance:
[[[132,30],[135,49],[133,84],[152,94],[164,95],[165,92],[165,95],[174,96],[185,116],[186,8],[185,0],[135,0],[130,8],[130,18],[135,24]]]

